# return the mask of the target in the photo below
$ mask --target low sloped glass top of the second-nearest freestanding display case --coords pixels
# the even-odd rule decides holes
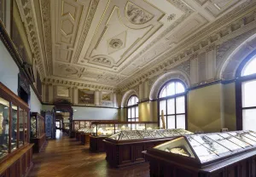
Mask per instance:
[[[110,140],[147,140],[193,134],[185,129],[151,129],[151,130],[125,130],[108,137]]]

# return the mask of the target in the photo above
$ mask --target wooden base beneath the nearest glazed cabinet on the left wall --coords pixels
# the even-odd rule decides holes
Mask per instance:
[[[32,144],[21,147],[14,156],[0,163],[1,177],[21,177],[29,174],[32,168]]]

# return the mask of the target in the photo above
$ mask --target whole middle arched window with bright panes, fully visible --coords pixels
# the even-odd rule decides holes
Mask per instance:
[[[163,128],[162,111],[166,128],[187,128],[186,94],[186,88],[179,80],[172,80],[160,89],[158,99],[160,128]]]

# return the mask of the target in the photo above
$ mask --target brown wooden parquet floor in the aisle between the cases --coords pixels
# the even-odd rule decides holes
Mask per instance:
[[[34,167],[29,177],[148,177],[149,165],[143,163],[127,168],[111,168],[106,154],[92,153],[89,146],[57,132],[57,140],[33,155]]]

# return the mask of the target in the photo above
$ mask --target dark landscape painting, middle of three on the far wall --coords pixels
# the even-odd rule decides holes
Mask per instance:
[[[95,92],[79,89],[79,104],[95,105]]]

